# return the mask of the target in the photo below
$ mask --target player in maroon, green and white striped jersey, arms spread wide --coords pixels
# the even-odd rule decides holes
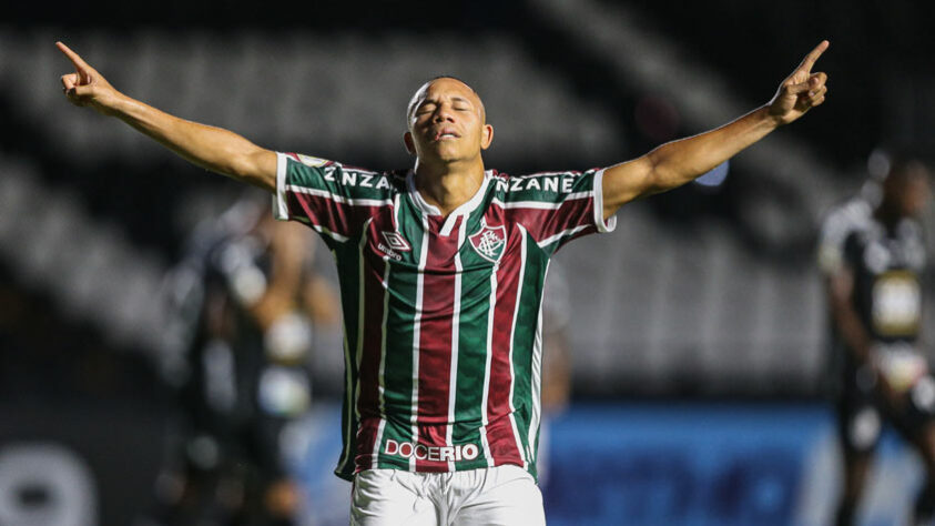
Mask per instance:
[[[608,232],[638,198],[698,178],[825,100],[821,42],[769,103],[715,130],[586,172],[485,170],[479,95],[441,77],[409,102],[408,171],[276,153],[115,90],[59,42],[69,101],[116,117],[189,161],[273,192],[280,219],[335,254],[345,322],[344,451],[360,525],[545,524],[536,485],[540,307],[549,257]],[[521,101],[520,101],[521,102]]]

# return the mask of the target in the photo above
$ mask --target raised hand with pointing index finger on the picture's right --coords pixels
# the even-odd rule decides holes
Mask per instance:
[[[799,68],[780,84],[773,100],[770,101],[770,115],[780,124],[790,122],[804,115],[806,111],[824,102],[827,94],[827,75],[812,73],[812,67],[819,57],[827,49],[827,40],[822,42],[805,55]]]

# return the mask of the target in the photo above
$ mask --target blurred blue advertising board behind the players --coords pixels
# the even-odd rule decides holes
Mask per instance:
[[[303,423],[295,466],[304,524],[345,525],[350,485],[332,474],[336,406]],[[546,419],[540,484],[550,526],[832,523],[841,477],[831,409],[821,403],[577,404]],[[861,524],[904,524],[922,468],[887,432]]]

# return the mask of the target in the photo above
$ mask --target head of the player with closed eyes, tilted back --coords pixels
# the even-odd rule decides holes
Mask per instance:
[[[457,79],[441,78],[423,85],[413,97],[407,117],[406,148],[421,161],[475,160],[494,139],[480,98]]]

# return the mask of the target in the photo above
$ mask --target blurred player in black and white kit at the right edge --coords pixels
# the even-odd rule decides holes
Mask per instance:
[[[897,158],[878,196],[847,201],[822,227],[819,262],[826,276],[845,468],[839,525],[854,524],[884,418],[925,463],[913,524],[935,512],[935,380],[917,348],[925,245],[915,216],[929,199],[928,179],[923,163]]]

